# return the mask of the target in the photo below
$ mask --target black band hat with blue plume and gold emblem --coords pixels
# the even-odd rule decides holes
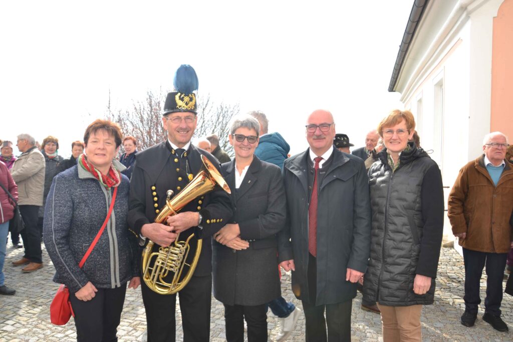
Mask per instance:
[[[174,73],[174,92],[167,93],[164,111],[165,116],[175,112],[192,112],[198,114],[195,90],[198,90],[198,75],[188,64],[182,64]]]

